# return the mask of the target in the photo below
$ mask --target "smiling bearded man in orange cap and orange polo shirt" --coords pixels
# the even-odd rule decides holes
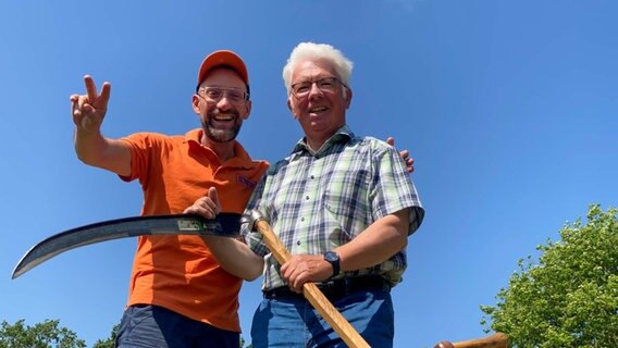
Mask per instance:
[[[210,188],[221,209],[243,213],[268,167],[235,140],[249,117],[249,76],[231,51],[208,55],[198,73],[193,109],[201,128],[185,135],[101,134],[111,85],[99,94],[84,77],[86,95],[71,96],[75,151],[86,164],[139,179],[143,215],[182,213]],[[238,347],[238,291],[244,274],[230,274],[199,236],[143,236],[131,275],[118,347]],[[252,279],[252,278],[251,278]]]

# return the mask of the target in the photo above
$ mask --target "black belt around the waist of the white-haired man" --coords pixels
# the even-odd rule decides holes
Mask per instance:
[[[391,284],[380,275],[364,275],[341,278],[330,282],[316,283],[316,285],[331,301],[361,290],[382,289],[384,291],[391,291]],[[305,298],[302,294],[294,293],[287,286],[267,290],[263,291],[263,294],[264,298],[268,299]]]

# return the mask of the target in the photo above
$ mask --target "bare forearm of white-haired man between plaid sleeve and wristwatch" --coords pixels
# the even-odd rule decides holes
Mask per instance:
[[[341,270],[355,271],[380,264],[408,245],[409,209],[384,216],[350,243],[335,249]]]

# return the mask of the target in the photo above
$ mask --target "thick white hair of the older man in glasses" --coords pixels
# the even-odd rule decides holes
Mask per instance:
[[[283,66],[283,83],[289,95],[292,84],[292,71],[301,61],[311,59],[324,59],[333,63],[337,77],[349,86],[354,63],[342,51],[327,44],[300,42],[292,50],[287,63]],[[344,88],[345,94],[345,88]]]

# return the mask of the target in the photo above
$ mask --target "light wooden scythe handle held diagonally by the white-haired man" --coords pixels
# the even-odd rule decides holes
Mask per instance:
[[[274,231],[264,220],[255,221],[255,227],[262,234],[263,240],[273,253],[280,264],[284,264],[292,258],[289,251],[283,243],[274,234]],[[326,320],[329,325],[339,334],[342,339],[350,348],[370,348],[369,344],[360,336],[360,334],[351,326],[351,324],[337,311],[337,309],[329,301],[324,294],[313,283],[305,283],[302,286],[302,295],[313,306],[320,314]]]

